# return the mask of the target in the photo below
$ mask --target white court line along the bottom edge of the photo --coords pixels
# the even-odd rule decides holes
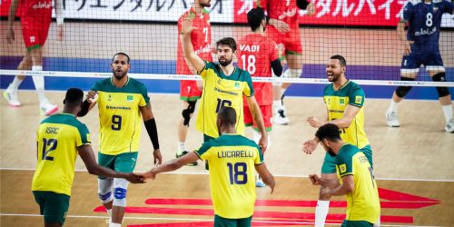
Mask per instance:
[[[0,213],[0,216],[16,216],[16,217],[43,217],[39,214],[26,214],[26,213]],[[107,216],[90,216],[90,215],[66,215],[66,218],[97,218],[97,219],[107,219]],[[123,219],[130,220],[159,220],[159,221],[191,221],[191,222],[211,222],[212,219],[196,219],[196,218],[152,218],[152,217],[124,217]],[[314,222],[275,222],[275,221],[252,221],[260,223],[277,223],[277,224],[313,224]],[[330,225],[341,225],[339,224],[330,224]],[[399,225],[399,224],[380,224],[380,226],[411,226],[411,227],[440,227],[440,225]]]

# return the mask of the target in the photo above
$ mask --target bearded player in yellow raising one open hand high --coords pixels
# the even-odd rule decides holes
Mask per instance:
[[[184,56],[192,64],[194,69],[202,76],[203,91],[199,106],[199,114],[195,128],[203,133],[203,141],[217,138],[219,133],[216,129],[216,114],[223,106],[230,106],[238,113],[236,119],[236,132],[244,133],[244,115],[242,97],[250,106],[252,117],[262,133],[259,145],[264,152],[268,144],[268,136],[263,124],[262,113],[259,104],[255,100],[252,77],[232,64],[236,54],[236,43],[231,37],[222,38],[216,42],[219,64],[203,61],[193,49],[191,33],[192,18],[186,17],[182,22],[182,45]]]

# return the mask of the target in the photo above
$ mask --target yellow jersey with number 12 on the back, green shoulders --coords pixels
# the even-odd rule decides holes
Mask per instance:
[[[87,127],[73,114],[54,114],[39,125],[36,143],[32,190],[71,195],[77,147],[90,143]]]

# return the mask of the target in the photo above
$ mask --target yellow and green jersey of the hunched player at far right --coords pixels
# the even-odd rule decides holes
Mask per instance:
[[[354,191],[347,194],[346,220],[376,223],[380,215],[379,189],[366,155],[358,147],[345,143],[336,157],[340,178],[353,175],[355,183]]]

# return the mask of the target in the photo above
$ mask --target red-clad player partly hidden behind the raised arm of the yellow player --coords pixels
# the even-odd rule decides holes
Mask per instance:
[[[197,74],[192,65],[183,55],[181,43],[181,30],[184,18],[192,18],[191,40],[194,51],[203,60],[212,62],[212,26],[210,25],[210,15],[205,7],[211,6],[211,0],[194,0],[191,9],[186,11],[178,19],[178,52],[176,60],[176,74]],[[183,101],[183,117],[178,123],[178,152],[176,157],[188,153],[184,147],[188,133],[189,121],[195,110],[197,100],[202,96],[202,83],[197,81],[180,82],[180,99]],[[190,165],[197,165],[197,162]]]

